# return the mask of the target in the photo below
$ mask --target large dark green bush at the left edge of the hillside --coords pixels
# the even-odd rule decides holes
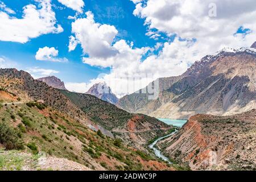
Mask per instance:
[[[0,123],[0,143],[5,146],[6,150],[22,150],[24,144],[20,137],[21,134],[13,127]]]

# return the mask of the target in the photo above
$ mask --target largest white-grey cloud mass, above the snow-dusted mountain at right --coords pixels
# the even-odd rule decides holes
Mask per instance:
[[[190,57],[195,61],[196,57],[224,47],[247,47],[253,43],[256,40],[255,6],[254,0],[148,0],[136,5],[134,15],[145,20],[148,36],[156,29],[168,36],[195,39],[192,49],[197,53]],[[249,28],[250,34],[236,35],[241,26]]]

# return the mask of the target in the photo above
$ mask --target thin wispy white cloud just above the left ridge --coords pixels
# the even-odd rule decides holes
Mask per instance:
[[[34,77],[35,79],[40,78],[40,77],[51,76],[56,73],[59,73],[59,71],[56,71],[53,69],[43,69],[43,68],[38,68],[38,67],[27,68],[26,72],[30,73],[30,75],[32,77]]]

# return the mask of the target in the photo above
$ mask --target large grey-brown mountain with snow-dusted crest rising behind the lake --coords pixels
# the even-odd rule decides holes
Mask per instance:
[[[256,49],[222,49],[203,57],[183,75],[159,78],[155,100],[134,93],[118,107],[156,118],[188,119],[194,114],[229,115],[256,108]]]

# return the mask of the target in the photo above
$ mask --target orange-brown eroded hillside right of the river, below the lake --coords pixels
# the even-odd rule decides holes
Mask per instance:
[[[191,169],[256,170],[256,110],[220,117],[197,114],[159,146]]]

